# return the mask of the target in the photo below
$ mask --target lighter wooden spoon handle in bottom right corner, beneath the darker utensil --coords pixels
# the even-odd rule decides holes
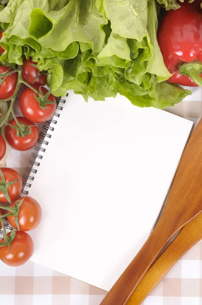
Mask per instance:
[[[140,305],[175,263],[202,239],[202,213],[182,228],[174,241],[149,268],[126,305]]]

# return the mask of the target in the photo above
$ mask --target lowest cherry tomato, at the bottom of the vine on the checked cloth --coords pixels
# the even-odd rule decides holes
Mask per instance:
[[[11,233],[8,233],[10,236]],[[4,238],[0,244],[4,242]],[[26,263],[33,254],[33,241],[31,236],[25,232],[16,231],[15,238],[9,247],[0,248],[0,259],[8,266],[16,267]]]

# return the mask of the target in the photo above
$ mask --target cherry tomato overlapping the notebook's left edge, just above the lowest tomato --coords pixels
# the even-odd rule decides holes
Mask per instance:
[[[42,219],[42,209],[39,202],[31,197],[21,197],[18,200],[23,199],[20,205],[18,222],[20,231],[29,231],[35,229],[41,222]],[[10,206],[15,207],[16,200],[14,200]],[[7,211],[9,213],[9,211]],[[7,217],[9,223],[13,228],[17,230],[15,223],[15,216]]]

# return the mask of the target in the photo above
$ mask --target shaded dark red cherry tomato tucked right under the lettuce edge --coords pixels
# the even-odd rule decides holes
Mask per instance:
[[[24,57],[22,66],[22,78],[30,85],[46,85],[47,75],[41,74],[39,78],[36,79],[39,70],[31,65],[37,65],[37,63],[32,62],[31,58],[28,60]],[[35,81],[36,79],[36,81]]]

